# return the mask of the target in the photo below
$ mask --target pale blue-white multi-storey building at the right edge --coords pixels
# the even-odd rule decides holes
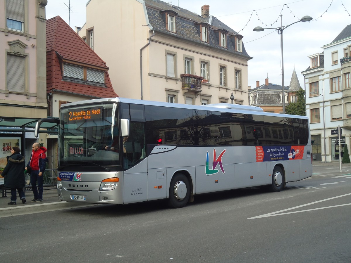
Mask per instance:
[[[338,126],[342,127],[341,155],[345,143],[350,149],[351,25],[322,49],[322,53],[308,56],[310,66],[302,74],[305,77],[306,113],[314,140],[313,159],[331,162],[339,160],[337,135],[332,132]]]

